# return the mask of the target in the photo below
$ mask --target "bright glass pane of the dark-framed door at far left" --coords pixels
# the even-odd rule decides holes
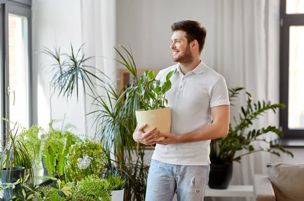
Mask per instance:
[[[9,119],[29,126],[28,18],[8,14],[8,115]],[[13,126],[13,125],[11,125]]]

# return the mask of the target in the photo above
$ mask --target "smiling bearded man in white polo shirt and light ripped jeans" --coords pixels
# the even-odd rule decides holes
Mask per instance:
[[[136,142],[156,144],[147,179],[146,201],[203,200],[210,172],[210,140],[225,137],[229,130],[230,102],[224,78],[200,60],[206,29],[197,21],[175,22],[171,29],[172,59],[178,62],[159,72],[167,73],[172,87],[166,93],[171,109],[171,131],[147,132],[140,125]],[[213,120],[213,122],[212,122]],[[211,123],[212,122],[212,123]],[[157,139],[165,137],[163,141]]]

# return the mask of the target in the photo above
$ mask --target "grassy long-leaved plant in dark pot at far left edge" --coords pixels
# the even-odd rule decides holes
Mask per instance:
[[[15,183],[16,178],[24,177],[24,170],[30,170],[33,178],[32,165],[34,156],[30,155],[22,140],[18,139],[19,125],[16,123],[12,129],[7,129],[5,140],[1,142],[0,170],[1,182],[4,187],[4,200],[10,199],[15,192],[13,188],[6,188],[7,184]],[[17,184],[18,187],[19,184]]]

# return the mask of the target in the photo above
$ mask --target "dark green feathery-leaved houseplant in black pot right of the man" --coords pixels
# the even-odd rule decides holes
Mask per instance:
[[[244,88],[229,89],[230,101],[236,97]],[[210,143],[210,188],[225,189],[229,185],[232,177],[233,161],[240,162],[242,156],[259,152],[267,151],[280,156],[280,153],[270,149],[256,149],[253,142],[262,141],[270,146],[275,146],[279,150],[293,157],[293,154],[284,149],[277,141],[267,140],[264,137],[269,132],[276,133],[278,137],[282,137],[282,131],[276,126],[267,126],[259,129],[252,129],[253,121],[262,116],[265,112],[272,110],[276,113],[276,109],[284,108],[284,104],[271,104],[271,102],[257,101],[254,102],[250,93],[247,94],[246,106],[241,107],[242,113],[239,120],[234,118],[235,125],[230,123],[229,132],[225,138],[211,140]],[[247,150],[246,153],[237,155],[237,151]]]

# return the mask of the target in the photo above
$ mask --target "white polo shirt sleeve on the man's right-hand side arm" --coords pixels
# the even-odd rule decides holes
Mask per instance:
[[[230,106],[229,93],[226,81],[222,76],[220,76],[220,78],[212,86],[210,93],[210,108],[221,105]]]

